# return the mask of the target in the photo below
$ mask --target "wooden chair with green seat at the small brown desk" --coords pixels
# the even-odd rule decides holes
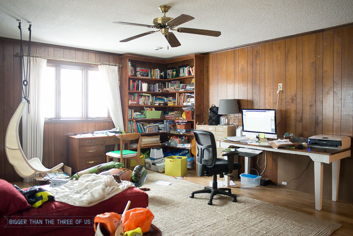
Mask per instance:
[[[116,135],[120,138],[120,150],[106,153],[107,162],[111,158],[119,158],[121,163],[124,163],[126,168],[130,168],[130,161],[135,160],[138,165],[141,164],[141,134],[140,133],[124,133]],[[138,140],[137,151],[131,151],[129,149],[130,142]],[[125,149],[124,146],[127,145]]]

